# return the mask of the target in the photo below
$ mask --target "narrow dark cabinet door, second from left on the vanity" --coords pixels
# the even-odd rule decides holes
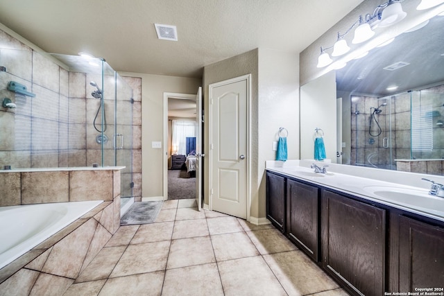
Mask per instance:
[[[288,236],[315,261],[318,261],[318,191],[315,186],[287,180]]]

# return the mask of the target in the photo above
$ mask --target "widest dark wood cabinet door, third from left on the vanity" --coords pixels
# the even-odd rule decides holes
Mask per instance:
[[[354,295],[384,295],[385,210],[322,193],[323,268]]]

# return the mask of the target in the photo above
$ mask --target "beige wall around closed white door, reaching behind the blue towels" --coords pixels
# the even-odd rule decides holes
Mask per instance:
[[[261,223],[266,216],[265,161],[275,159],[273,141],[280,127],[289,131],[289,159],[299,155],[298,87],[299,59],[295,53],[255,49],[228,60],[210,64],[204,69],[204,105],[208,106],[208,85],[251,73],[251,204],[252,221]],[[205,112],[205,121],[208,121]],[[205,139],[208,126],[205,125]],[[209,143],[205,141],[205,153]],[[208,164],[205,162],[205,171]],[[207,175],[207,174],[205,174]],[[209,189],[205,177],[204,192]],[[205,194],[204,193],[204,194]],[[209,202],[205,194],[205,203]]]

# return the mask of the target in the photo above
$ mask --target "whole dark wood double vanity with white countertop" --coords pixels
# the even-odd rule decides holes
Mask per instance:
[[[427,183],[418,188],[386,182],[391,177],[381,170],[373,179],[359,177],[371,169],[345,174],[330,166],[325,174],[267,166],[268,220],[352,295],[444,293],[444,198],[427,204]],[[420,202],[411,205],[413,193]]]

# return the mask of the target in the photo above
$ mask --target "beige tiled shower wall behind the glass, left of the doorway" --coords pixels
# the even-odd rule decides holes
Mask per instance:
[[[92,125],[100,100],[91,96],[95,88],[89,85],[91,80],[101,82],[101,76],[69,72],[1,30],[0,66],[6,67],[6,71],[0,72],[0,101],[10,98],[17,105],[15,109],[0,105],[0,169],[101,164],[101,145],[95,141],[99,133]],[[123,149],[118,150],[117,165],[126,166],[121,180],[128,186],[133,170],[132,195],[138,200],[142,196],[142,80],[120,79],[126,82],[126,89],[117,90],[124,94],[117,101],[118,132],[125,134],[126,141]],[[103,87],[108,122],[105,133],[110,139],[105,146],[104,164],[113,166],[114,96],[107,94],[114,92],[114,87],[108,80],[114,82],[114,76],[105,78]],[[8,91],[9,81],[26,85],[35,97]],[[130,103],[131,98],[134,103]],[[122,195],[126,194],[122,190]]]

